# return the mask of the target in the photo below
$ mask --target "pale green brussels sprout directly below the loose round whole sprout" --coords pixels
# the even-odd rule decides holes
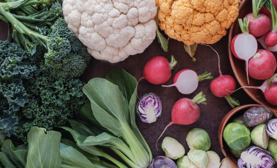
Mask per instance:
[[[187,156],[199,168],[206,168],[209,164],[209,155],[204,150],[192,149]]]

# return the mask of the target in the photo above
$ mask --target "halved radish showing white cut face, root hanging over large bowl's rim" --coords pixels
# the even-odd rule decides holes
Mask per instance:
[[[252,58],[258,49],[258,43],[256,38],[249,34],[248,25],[251,19],[244,18],[244,22],[242,19],[238,19],[239,26],[242,34],[236,35],[231,41],[231,51],[238,59],[243,59],[246,61],[246,75],[247,81],[248,79],[248,60]]]

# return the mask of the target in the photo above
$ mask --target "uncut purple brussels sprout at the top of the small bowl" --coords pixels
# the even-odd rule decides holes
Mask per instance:
[[[243,114],[243,123],[248,129],[260,124],[266,124],[272,118],[272,112],[265,107],[251,107]]]

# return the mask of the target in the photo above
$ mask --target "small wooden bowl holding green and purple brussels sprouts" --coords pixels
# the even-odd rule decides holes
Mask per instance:
[[[219,129],[218,129],[218,141],[219,141],[220,149],[221,149],[223,155],[233,165],[235,165],[237,167],[238,167],[238,158],[236,158],[231,153],[231,150],[229,149],[229,146],[224,141],[224,139],[223,139],[223,130],[224,130],[225,126],[232,121],[232,119],[234,119],[235,117],[238,117],[240,115],[243,115],[244,112],[246,112],[248,109],[250,109],[251,107],[254,107],[254,106],[260,106],[260,107],[265,107],[265,108],[269,109],[272,112],[272,114],[273,114],[272,118],[277,118],[277,113],[275,111],[273,111],[273,109],[271,109],[271,108],[268,108],[268,107],[263,106],[263,105],[258,105],[258,104],[247,104],[247,105],[242,105],[242,106],[236,107],[235,109],[232,109],[231,111],[229,111],[223,117],[223,119],[222,119],[222,121],[220,122],[220,125],[219,125]],[[275,162],[274,165],[277,165],[277,162]]]

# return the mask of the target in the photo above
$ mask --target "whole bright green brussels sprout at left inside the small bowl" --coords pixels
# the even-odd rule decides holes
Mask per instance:
[[[239,123],[229,123],[223,130],[223,138],[233,150],[243,150],[251,143],[249,129]]]

